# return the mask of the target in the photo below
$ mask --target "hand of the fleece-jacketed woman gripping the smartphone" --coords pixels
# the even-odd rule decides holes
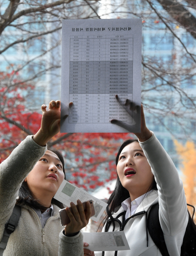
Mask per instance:
[[[66,208],[66,212],[70,218],[70,223],[65,227],[66,236],[72,236],[72,234],[77,233],[89,223],[89,219],[91,216],[90,203],[86,203],[86,213],[84,212],[84,208],[80,200],[77,200],[77,204],[78,210],[73,202],[70,203],[73,214],[71,213],[69,207]]]

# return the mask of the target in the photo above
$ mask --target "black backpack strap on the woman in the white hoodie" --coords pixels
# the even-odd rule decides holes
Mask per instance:
[[[170,256],[159,221],[159,203],[152,205],[150,212],[148,213],[147,228],[153,242],[159,248],[162,256]]]

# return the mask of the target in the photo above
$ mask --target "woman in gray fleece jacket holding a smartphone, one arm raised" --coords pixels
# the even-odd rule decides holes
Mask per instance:
[[[41,108],[40,130],[27,136],[0,164],[0,241],[22,183],[32,194],[35,205],[40,205],[40,209],[35,209],[30,207],[30,200],[20,200],[21,216],[3,256],[82,256],[80,229],[89,221],[90,203],[86,214],[79,200],[79,212],[73,203],[74,214],[66,208],[71,222],[62,230],[60,208],[53,203],[53,197],[65,178],[64,163],[60,152],[47,150],[46,145],[60,131],[60,101],[51,101],[48,111],[46,105]]]

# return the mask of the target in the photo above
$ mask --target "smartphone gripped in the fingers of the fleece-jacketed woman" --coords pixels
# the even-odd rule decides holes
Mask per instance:
[[[90,203],[90,206],[91,206],[91,216],[94,216],[95,215],[95,209],[94,209],[94,204],[93,204],[93,200],[89,200],[89,201],[85,201],[82,203],[83,205],[83,208],[84,208],[84,211],[86,212],[86,203],[89,202]],[[78,205],[76,205],[77,209],[78,209]],[[61,209],[59,210],[59,216],[60,216],[60,221],[61,221],[61,226],[66,226],[69,222],[70,222],[70,218],[65,210],[66,208],[64,209]],[[73,214],[73,210],[72,210],[72,207],[69,207],[71,213]]]

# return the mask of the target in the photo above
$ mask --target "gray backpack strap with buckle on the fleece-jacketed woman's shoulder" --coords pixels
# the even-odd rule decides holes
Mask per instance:
[[[7,223],[5,224],[5,231],[4,231],[1,243],[0,243],[0,256],[3,255],[3,252],[8,243],[9,236],[11,235],[11,233],[14,232],[14,230],[19,222],[20,215],[21,215],[21,208],[20,208],[20,206],[15,205],[12,215],[9,218],[9,221],[7,221]]]

